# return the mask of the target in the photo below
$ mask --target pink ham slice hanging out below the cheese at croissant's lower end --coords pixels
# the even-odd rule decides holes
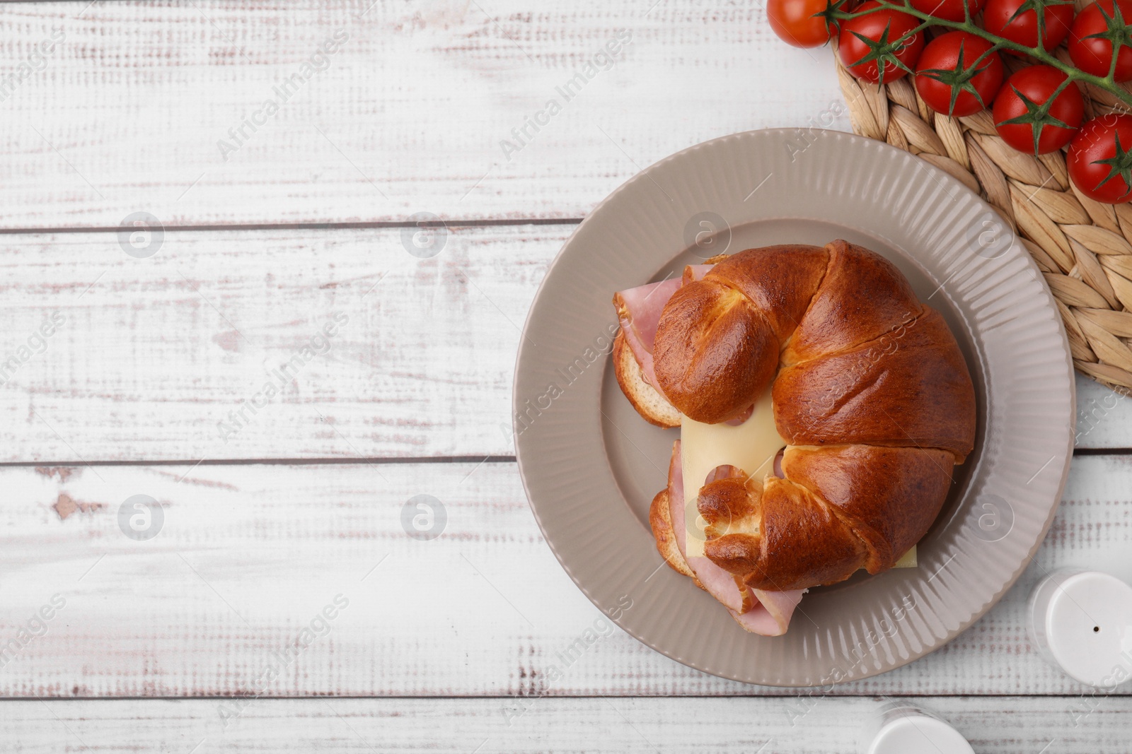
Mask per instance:
[[[727,474],[722,468],[712,474]],[[668,504],[676,544],[696,574],[700,583],[712,597],[723,604],[745,630],[764,636],[781,636],[790,625],[790,616],[801,601],[805,590],[761,591],[744,584],[735,574],[724,571],[707,557],[687,556],[687,528],[684,513],[684,470],[680,463],[680,443],[672,449],[668,467]]]

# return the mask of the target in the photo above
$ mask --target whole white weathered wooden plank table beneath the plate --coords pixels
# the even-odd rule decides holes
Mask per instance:
[[[1048,539],[934,655],[798,694],[616,630],[547,679],[599,613],[520,485],[518,328],[638,168],[848,130],[829,51],[758,0],[15,2],[0,44],[3,751],[832,753],[881,696],[980,753],[1129,751],[1125,687],[1023,629],[1046,571],[1132,580],[1132,401],[1084,380]],[[120,236],[135,213],[163,231]],[[402,523],[421,494],[432,539]],[[135,495],[163,520],[120,523]]]

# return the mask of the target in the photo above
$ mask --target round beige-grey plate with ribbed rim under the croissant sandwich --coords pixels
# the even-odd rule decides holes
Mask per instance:
[[[697,258],[838,237],[891,259],[947,319],[975,378],[978,437],[920,541],[919,567],[814,589],[784,636],[756,636],[657,554],[648,508],[677,431],[646,424],[617,389],[610,297]],[[652,165],[578,226],[528,317],[515,413],[531,508],[599,608],[694,668],[809,686],[867,678],[942,647],[1022,573],[1069,470],[1073,372],[1038,269],[959,182],[848,133],[752,131]]]

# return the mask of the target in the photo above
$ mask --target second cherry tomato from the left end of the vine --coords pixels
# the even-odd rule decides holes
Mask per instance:
[[[861,3],[858,15],[841,24],[838,36],[841,62],[850,73],[873,84],[903,78],[915,68],[924,50],[924,32],[900,42],[903,35],[919,26],[915,16],[889,8],[859,15],[880,7],[875,0]]]

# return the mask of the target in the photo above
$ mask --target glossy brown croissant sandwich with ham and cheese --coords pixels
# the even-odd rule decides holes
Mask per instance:
[[[614,296],[614,366],[645,421],[680,427],[660,554],[780,635],[806,589],[915,555],[974,448],[975,389],[940,313],[867,249],[707,262]]]

